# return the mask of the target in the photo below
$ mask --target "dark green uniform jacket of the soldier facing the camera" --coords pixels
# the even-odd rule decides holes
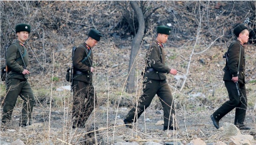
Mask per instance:
[[[7,49],[6,62],[9,71],[8,78],[25,80],[28,79],[28,75],[22,74],[24,68],[19,49],[21,51],[21,54],[25,53],[23,60],[25,65],[28,66],[29,57],[26,50],[26,46],[19,40],[15,40],[14,44],[10,45],[9,48]]]

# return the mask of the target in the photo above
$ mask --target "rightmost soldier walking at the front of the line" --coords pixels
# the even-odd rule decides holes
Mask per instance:
[[[238,37],[236,42],[230,44],[227,50],[226,66],[224,68],[224,83],[229,95],[229,101],[224,102],[220,108],[218,108],[212,115],[211,119],[213,125],[218,129],[219,120],[227,113],[236,108],[235,122],[234,124],[240,130],[250,130],[249,127],[244,125],[244,119],[247,109],[247,97],[245,89],[245,52],[244,43],[248,42],[249,31],[244,23],[234,28],[234,34]],[[241,49],[241,55],[240,54]],[[240,63],[239,63],[240,58]],[[239,65],[239,66],[238,66]],[[239,90],[239,91],[238,91]]]

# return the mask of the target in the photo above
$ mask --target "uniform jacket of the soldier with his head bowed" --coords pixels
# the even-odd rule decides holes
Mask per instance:
[[[89,54],[90,46],[85,42],[80,44],[74,53],[73,57],[73,66],[74,66],[74,80],[80,80],[88,83],[92,83],[93,74],[90,72],[90,67],[93,65],[93,52],[91,50],[89,58],[85,60],[83,63],[81,62],[87,54]],[[85,52],[87,51],[87,52]],[[86,54],[87,53],[87,54]],[[76,74],[76,71],[81,71],[82,74]]]

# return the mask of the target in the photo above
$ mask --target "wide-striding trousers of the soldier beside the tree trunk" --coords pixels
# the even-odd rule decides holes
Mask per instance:
[[[163,106],[164,126],[172,126],[172,114],[175,114],[172,92],[166,80],[147,80],[143,83],[143,94],[139,98],[138,106],[134,106],[125,117],[130,122],[136,122],[137,118],[148,108],[154,96],[157,94]],[[172,111],[171,111],[172,106]],[[137,112],[136,112],[137,108]]]

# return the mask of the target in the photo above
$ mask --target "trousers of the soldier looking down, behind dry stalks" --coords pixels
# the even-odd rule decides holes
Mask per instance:
[[[97,104],[92,83],[73,80],[73,125],[83,126]]]

